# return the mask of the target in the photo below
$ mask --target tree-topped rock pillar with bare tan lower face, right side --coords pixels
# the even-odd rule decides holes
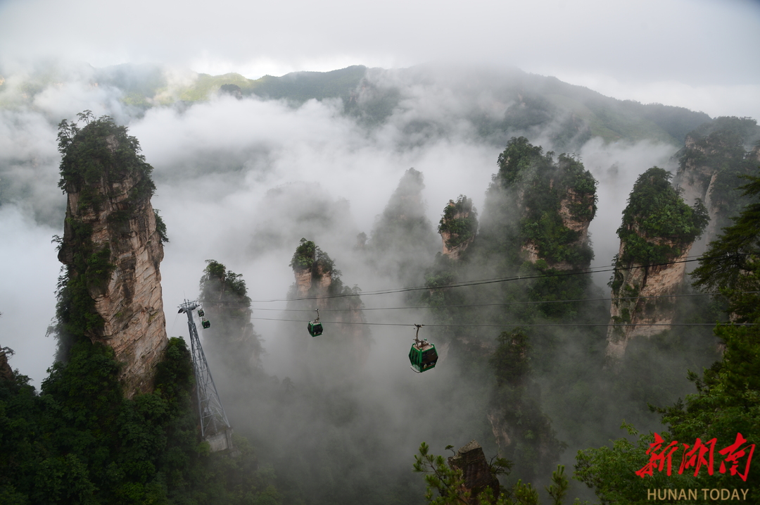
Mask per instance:
[[[704,206],[686,205],[670,179],[670,173],[657,167],[641,174],[617,230],[620,249],[610,283],[610,324],[626,326],[607,331],[606,355],[613,361],[622,358],[632,338],[670,329],[676,299],[668,295],[682,290],[682,261],[708,222]]]

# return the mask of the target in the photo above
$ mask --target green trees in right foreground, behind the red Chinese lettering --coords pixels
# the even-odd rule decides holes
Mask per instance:
[[[705,259],[693,276],[695,285],[706,291],[719,289],[728,299],[729,310],[736,321],[760,323],[760,229],[757,227],[760,211],[760,177],[748,177],[750,183],[743,186],[745,195],[753,197],[733,226],[712,242]],[[719,325],[715,333],[725,345],[723,359],[717,361],[699,377],[689,372],[689,380],[695,383],[697,392],[687,395],[685,402],[679,400],[668,408],[657,408],[663,414],[663,423],[669,431],[660,433],[662,450],[676,440],[678,449],[671,456],[672,475],[658,472],[644,478],[635,475],[643,468],[650,456],[646,451],[654,443],[654,435],[638,436],[632,427],[629,436],[638,440],[615,440],[613,446],[586,449],[578,453],[575,478],[593,488],[602,503],[648,503],[648,489],[748,489],[751,503],[758,503],[760,495],[760,472],[749,472],[746,481],[739,475],[731,475],[731,463],[726,472],[720,472],[725,455],[719,451],[730,446],[742,434],[746,443],[743,448],[760,442],[760,328],[758,326]],[[714,448],[714,474],[707,468],[694,474],[695,467],[678,475],[679,465],[686,449],[683,444],[694,446],[696,440],[709,443],[717,439]],[[739,459],[739,474],[746,469],[747,454]],[[750,468],[751,469],[751,468]]]

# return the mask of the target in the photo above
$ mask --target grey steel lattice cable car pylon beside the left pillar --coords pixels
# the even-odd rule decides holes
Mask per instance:
[[[201,347],[201,339],[198,338],[198,328],[195,327],[193,320],[192,311],[198,307],[200,304],[197,301],[185,300],[185,303],[179,306],[178,313],[184,312],[188,316],[192,367],[195,373],[195,395],[198,399],[198,413],[201,416],[201,438],[209,443],[212,453],[227,449],[230,450],[230,453],[235,453],[232,439],[233,429],[230,427],[230,421],[227,421],[227,414],[219,398],[214,379],[211,377],[206,354]],[[208,320],[203,317],[203,309],[199,309],[198,313],[201,314],[204,328],[207,328],[206,322]]]

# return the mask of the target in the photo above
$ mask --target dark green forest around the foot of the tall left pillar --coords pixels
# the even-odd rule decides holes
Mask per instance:
[[[192,362],[172,338],[154,392],[125,399],[113,351],[81,341],[40,395],[0,381],[0,503],[279,503],[252,450],[210,454],[192,408]]]

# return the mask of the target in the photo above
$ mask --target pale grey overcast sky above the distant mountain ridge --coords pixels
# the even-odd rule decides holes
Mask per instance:
[[[0,0],[0,65],[160,62],[249,78],[514,65],[616,98],[760,115],[758,0]]]

